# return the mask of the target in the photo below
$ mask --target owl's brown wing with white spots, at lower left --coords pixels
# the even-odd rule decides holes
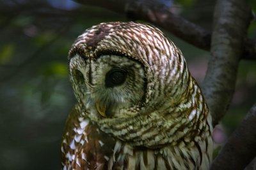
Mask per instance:
[[[74,107],[61,143],[63,169],[108,169],[115,141],[99,130]]]

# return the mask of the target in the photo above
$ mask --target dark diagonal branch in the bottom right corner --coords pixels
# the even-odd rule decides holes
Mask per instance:
[[[253,160],[256,155],[255,122],[256,103],[250,109],[239,127],[237,127],[236,131],[230,136],[218,157],[212,162],[211,170],[244,169]],[[248,167],[248,169],[250,169],[250,167]]]

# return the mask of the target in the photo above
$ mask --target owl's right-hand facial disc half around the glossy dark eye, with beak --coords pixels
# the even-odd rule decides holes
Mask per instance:
[[[145,95],[145,73],[138,61],[124,56],[103,55],[86,62],[91,81],[90,103],[102,118],[122,115]],[[89,66],[90,65],[90,66]]]

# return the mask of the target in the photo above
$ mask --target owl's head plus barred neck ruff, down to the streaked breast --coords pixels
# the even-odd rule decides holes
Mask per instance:
[[[134,146],[177,143],[184,135],[177,135],[178,125],[194,133],[191,120],[206,108],[180,50],[155,27],[93,26],[77,38],[68,58],[81,116]]]

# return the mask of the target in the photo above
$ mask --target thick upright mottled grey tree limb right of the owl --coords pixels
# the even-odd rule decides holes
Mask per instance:
[[[245,1],[217,1],[211,42],[212,57],[202,86],[214,125],[221,120],[232,99],[249,22],[250,8]]]

